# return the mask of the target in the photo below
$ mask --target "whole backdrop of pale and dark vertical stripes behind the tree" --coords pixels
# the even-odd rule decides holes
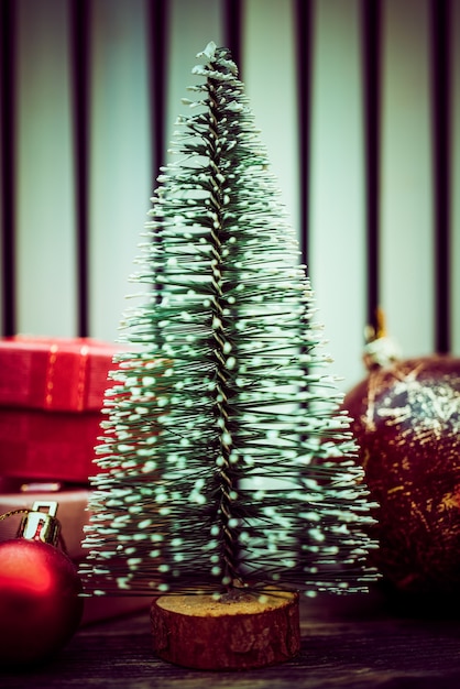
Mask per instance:
[[[460,356],[460,0],[1,0],[2,333],[117,339],[195,55],[232,50],[333,372]]]

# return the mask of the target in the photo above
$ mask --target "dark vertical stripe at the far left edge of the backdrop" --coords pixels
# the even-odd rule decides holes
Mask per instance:
[[[15,0],[0,2],[2,335],[15,333]]]

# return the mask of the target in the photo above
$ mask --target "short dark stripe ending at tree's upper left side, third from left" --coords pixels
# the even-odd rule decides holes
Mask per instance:
[[[150,79],[150,111],[152,121],[152,168],[155,179],[160,167],[165,162],[165,108],[168,34],[167,2],[146,0],[147,11],[147,52]]]

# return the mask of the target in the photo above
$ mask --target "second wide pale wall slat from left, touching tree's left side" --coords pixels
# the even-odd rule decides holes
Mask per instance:
[[[91,7],[90,332],[118,338],[154,188],[144,0]]]

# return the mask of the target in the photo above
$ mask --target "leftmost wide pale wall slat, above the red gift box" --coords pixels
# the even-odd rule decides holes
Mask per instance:
[[[68,3],[19,0],[18,330],[76,335]]]

